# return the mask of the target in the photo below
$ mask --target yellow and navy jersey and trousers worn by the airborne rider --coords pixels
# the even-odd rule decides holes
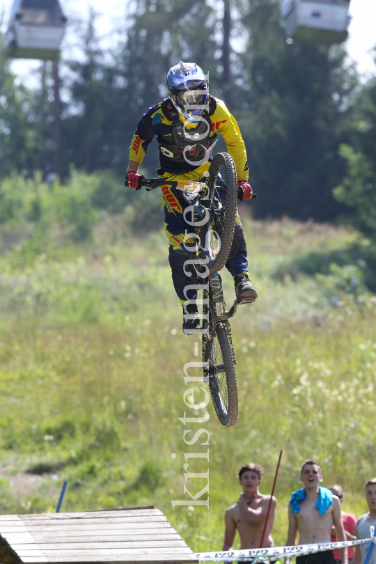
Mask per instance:
[[[213,99],[214,111],[209,113],[210,116],[210,137],[214,137],[219,133],[224,137],[227,150],[233,157],[236,166],[237,179],[248,180],[248,164],[246,162],[246,149],[242,135],[236,120],[231,116],[224,102]],[[195,129],[199,122],[192,123],[179,113],[179,119],[184,123],[187,130]],[[173,122],[164,115],[162,111],[162,102],[149,108],[143,115],[141,121],[136,127],[132,144],[130,146],[130,160],[141,163],[145,157],[150,141],[157,135],[159,145],[170,146],[173,144]],[[209,140],[210,140],[209,137]],[[214,139],[213,139],[214,141]],[[159,160],[161,164],[160,175],[174,175],[175,180],[191,180],[191,172],[195,171],[195,176],[201,176],[209,169],[210,162],[194,165],[189,162],[176,162],[172,158],[164,155],[159,149]],[[187,299],[196,299],[197,290],[194,290],[196,276],[189,277],[185,271],[187,260],[190,257],[190,251],[187,245],[194,245],[194,239],[187,239],[187,234],[192,232],[191,211],[187,207],[191,206],[189,201],[184,197],[181,190],[171,187],[171,185],[162,185],[162,204],[164,207],[164,229],[166,237],[169,240],[169,263],[171,266],[173,285],[175,291],[180,298],[180,302],[184,303]],[[186,219],[185,219],[185,210]],[[190,222],[190,223],[189,223]],[[233,245],[231,246],[230,256],[226,263],[227,269],[233,276],[248,272],[248,260],[246,257],[246,242],[244,240],[244,232],[240,218],[237,215],[235,221],[235,233]],[[187,292],[185,292],[187,290]]]

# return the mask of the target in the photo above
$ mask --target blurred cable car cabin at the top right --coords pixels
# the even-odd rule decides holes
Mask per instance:
[[[350,0],[282,0],[287,38],[315,43],[341,43],[350,23]]]

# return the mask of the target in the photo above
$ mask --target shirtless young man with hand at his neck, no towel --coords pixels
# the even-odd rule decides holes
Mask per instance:
[[[267,516],[270,496],[260,494],[263,478],[263,467],[260,464],[245,464],[239,472],[239,483],[243,493],[237,503],[230,506],[225,513],[225,540],[223,550],[231,550],[236,530],[240,535],[240,550],[260,548],[261,537]],[[269,519],[265,531],[263,547],[272,547],[272,528],[276,517],[276,498],[272,499]]]

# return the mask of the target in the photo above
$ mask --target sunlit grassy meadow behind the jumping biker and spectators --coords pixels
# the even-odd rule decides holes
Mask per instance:
[[[198,425],[178,418],[189,412],[183,368],[197,361],[198,339],[181,331],[162,214],[155,200],[127,195],[120,205],[111,182],[86,178],[82,188],[75,178],[69,192],[29,185],[27,198],[13,178],[0,194],[0,216],[13,210],[0,228],[0,513],[52,512],[68,480],[62,510],[152,504],[194,551],[220,549],[237,471],[263,464],[269,493],[281,448],[276,545],[306,457],[322,464],[324,485],[343,486],[345,510],[364,512],[363,483],[376,474],[367,242],[341,226],[253,221],[242,205],[259,298],[233,320],[239,418],[223,428],[208,405],[209,444],[203,435],[189,446],[183,432]],[[99,181],[112,210],[79,196],[100,201]],[[233,282],[222,278],[230,306]],[[210,507],[173,510],[171,500],[189,499],[184,454],[196,449],[209,449],[209,464],[188,462],[210,469]],[[198,492],[206,480],[189,485]]]

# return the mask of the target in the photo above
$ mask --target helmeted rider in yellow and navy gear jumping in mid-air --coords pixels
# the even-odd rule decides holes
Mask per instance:
[[[243,200],[251,199],[246,149],[239,127],[224,102],[207,92],[206,77],[201,68],[196,63],[180,61],[169,70],[167,87],[169,97],[149,108],[134,132],[127,169],[128,185],[137,189],[140,180],[145,180],[143,175],[138,174],[138,170],[155,135],[159,143],[159,177],[174,175],[174,180],[188,181],[202,177],[209,169],[211,150],[219,132],[235,162],[238,194]],[[194,133],[187,139],[184,132],[191,130]],[[195,142],[195,138],[198,141]],[[196,304],[191,303],[196,300],[197,290],[189,289],[185,292],[187,285],[195,283],[194,276],[187,276],[184,269],[185,261],[191,254],[185,249],[186,233],[191,233],[192,228],[183,214],[190,203],[185,199],[184,192],[168,185],[162,185],[162,203],[164,228],[170,243],[169,263],[173,285],[183,306],[182,329],[185,334],[191,334],[200,329],[200,317]],[[258,297],[249,280],[246,242],[238,214],[226,268],[234,277],[237,301]],[[187,301],[188,304],[185,305]]]

